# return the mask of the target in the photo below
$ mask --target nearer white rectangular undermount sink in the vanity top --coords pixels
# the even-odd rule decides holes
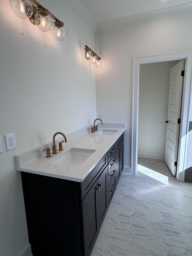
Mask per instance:
[[[95,149],[70,148],[62,154],[56,156],[54,159],[49,160],[48,163],[79,166],[85,162],[85,160],[87,160],[87,158],[89,158],[95,151]]]

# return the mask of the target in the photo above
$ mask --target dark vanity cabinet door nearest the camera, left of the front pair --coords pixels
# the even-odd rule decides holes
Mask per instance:
[[[91,254],[93,246],[99,234],[99,195],[98,180],[94,183],[84,200],[82,201],[82,218],[85,256]]]

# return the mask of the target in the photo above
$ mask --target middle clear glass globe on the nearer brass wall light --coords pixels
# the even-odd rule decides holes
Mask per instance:
[[[35,25],[43,32],[47,32],[52,29],[53,20],[49,11],[46,8],[38,8],[38,11],[34,17]]]

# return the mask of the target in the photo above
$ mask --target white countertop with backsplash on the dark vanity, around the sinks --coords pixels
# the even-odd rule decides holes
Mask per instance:
[[[120,126],[121,127],[121,126]],[[103,129],[102,128],[99,128]],[[116,132],[113,135],[101,135],[88,132],[81,137],[72,140],[69,143],[63,143],[63,151],[58,151],[58,154],[52,155],[51,158],[46,158],[45,155],[36,158],[38,156],[36,148],[28,152],[16,155],[16,165],[17,170],[24,171],[28,173],[35,173],[44,176],[50,176],[60,179],[67,179],[77,182],[82,182],[83,179],[91,172],[95,165],[101,160],[105,153],[113,146],[114,142],[122,135],[125,131],[125,128],[112,128]],[[58,143],[57,143],[58,146]],[[90,155],[81,165],[79,166],[68,166],[62,164],[50,163],[64,154],[66,150],[70,148],[80,148],[80,149],[93,149],[95,152]],[[39,149],[40,150],[40,149]],[[42,147],[41,147],[42,151]],[[33,161],[31,155],[35,155]],[[37,156],[36,156],[37,155]],[[29,162],[30,161],[30,162]]]

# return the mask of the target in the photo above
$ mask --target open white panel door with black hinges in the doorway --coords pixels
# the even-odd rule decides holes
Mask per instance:
[[[167,113],[167,134],[165,146],[165,162],[173,175],[176,175],[179,124],[182,101],[184,60],[181,60],[170,70],[169,102]]]

